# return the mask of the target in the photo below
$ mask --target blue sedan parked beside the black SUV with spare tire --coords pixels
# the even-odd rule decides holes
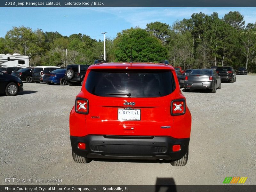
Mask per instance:
[[[61,84],[66,85],[67,81],[65,79],[66,69],[56,69],[51,73],[45,73],[43,81],[47,84]]]

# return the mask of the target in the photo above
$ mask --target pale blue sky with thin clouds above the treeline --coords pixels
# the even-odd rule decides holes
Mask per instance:
[[[36,30],[57,31],[69,36],[74,33],[103,40],[101,32],[115,38],[123,29],[160,21],[172,25],[176,20],[189,19],[193,13],[218,12],[222,18],[229,11],[239,11],[247,23],[255,23],[255,7],[0,7],[0,37],[12,27],[25,26]]]

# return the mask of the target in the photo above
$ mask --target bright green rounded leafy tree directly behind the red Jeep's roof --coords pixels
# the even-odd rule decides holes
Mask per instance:
[[[167,56],[167,50],[161,41],[140,28],[123,30],[117,34],[114,46],[116,61],[130,61],[131,49],[134,62],[160,61]]]

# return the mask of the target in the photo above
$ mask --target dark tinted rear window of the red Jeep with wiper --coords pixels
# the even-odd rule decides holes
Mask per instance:
[[[166,70],[92,70],[85,87],[102,97],[163,97],[174,91],[175,82]]]

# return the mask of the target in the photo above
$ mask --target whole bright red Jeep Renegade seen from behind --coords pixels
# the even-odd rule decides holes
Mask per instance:
[[[70,112],[73,159],[188,161],[191,114],[174,68],[164,63],[96,63]]]

